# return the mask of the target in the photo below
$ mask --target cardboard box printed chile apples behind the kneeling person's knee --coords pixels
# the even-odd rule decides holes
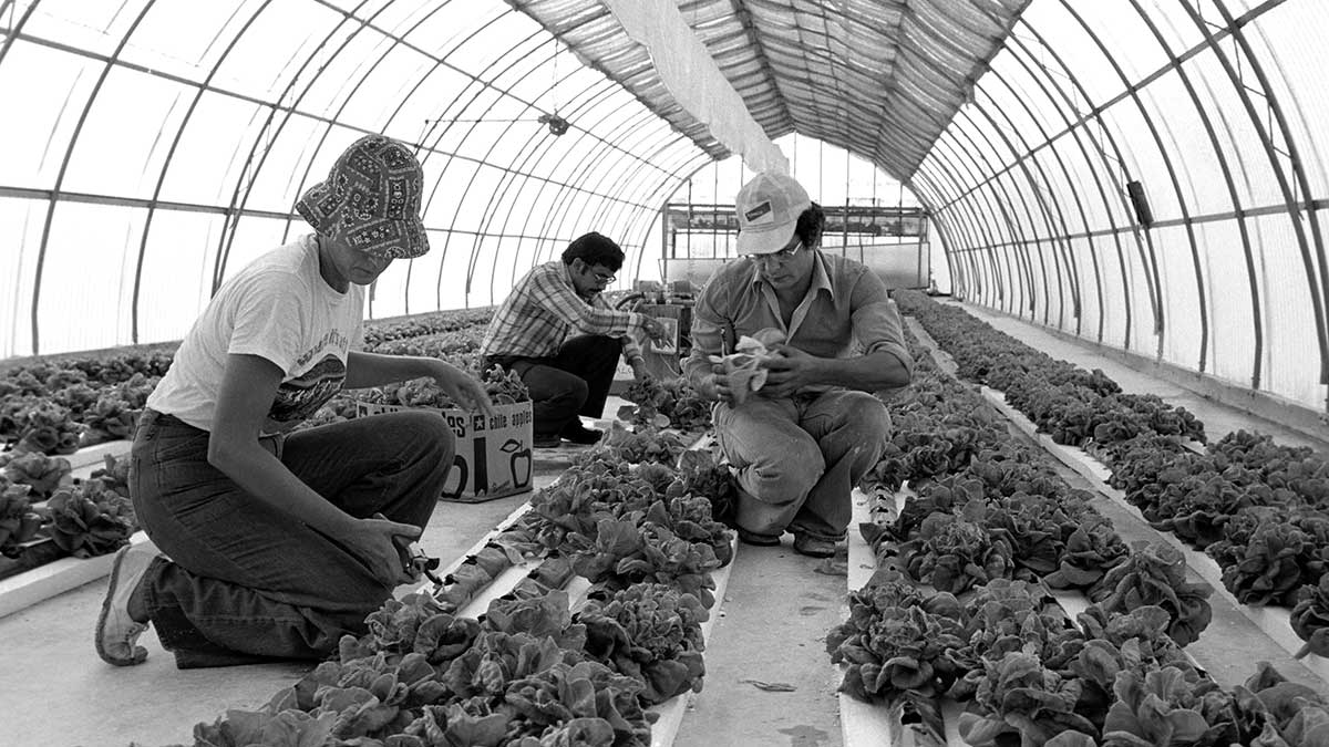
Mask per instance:
[[[488,423],[482,415],[464,409],[356,403],[356,415],[361,417],[400,409],[440,412],[457,437],[441,500],[474,504],[530,490],[534,416],[529,401],[494,405]]]

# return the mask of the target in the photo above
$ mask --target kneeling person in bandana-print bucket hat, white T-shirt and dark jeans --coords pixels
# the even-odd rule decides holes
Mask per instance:
[[[437,413],[294,428],[343,387],[432,376],[492,412],[484,387],[432,358],[358,351],[364,286],[420,257],[423,170],[365,136],[295,209],[314,233],[235,272],[148,399],[130,494],[150,542],[114,560],[97,654],[142,662],[149,625],[181,669],[320,659],[409,581],[452,467]],[[159,550],[158,550],[159,548]]]

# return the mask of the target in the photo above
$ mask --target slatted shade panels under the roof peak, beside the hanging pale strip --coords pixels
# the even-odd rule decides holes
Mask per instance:
[[[509,0],[707,154],[730,154],[670,94],[602,3]],[[777,138],[823,140],[908,179],[1029,0],[694,0],[679,13]]]

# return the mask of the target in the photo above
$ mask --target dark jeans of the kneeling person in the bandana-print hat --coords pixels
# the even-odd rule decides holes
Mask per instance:
[[[158,557],[130,613],[150,621],[181,669],[319,659],[393,586],[335,538],[254,500],[207,463],[209,433],[145,411],[130,493]],[[456,448],[437,413],[360,417],[264,440],[306,485],[358,518],[424,528]]]

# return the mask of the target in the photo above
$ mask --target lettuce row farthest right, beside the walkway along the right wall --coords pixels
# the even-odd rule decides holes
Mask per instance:
[[[1111,471],[1110,484],[1160,530],[1204,550],[1247,605],[1292,607],[1306,653],[1329,655],[1329,460],[1237,431],[1196,453],[1204,431],[1183,408],[1119,393],[1100,371],[1053,360],[960,308],[902,294],[902,304],[956,360],[958,375],[1005,392],[1041,431],[1066,417]],[[1122,427],[1128,423],[1130,427]]]

